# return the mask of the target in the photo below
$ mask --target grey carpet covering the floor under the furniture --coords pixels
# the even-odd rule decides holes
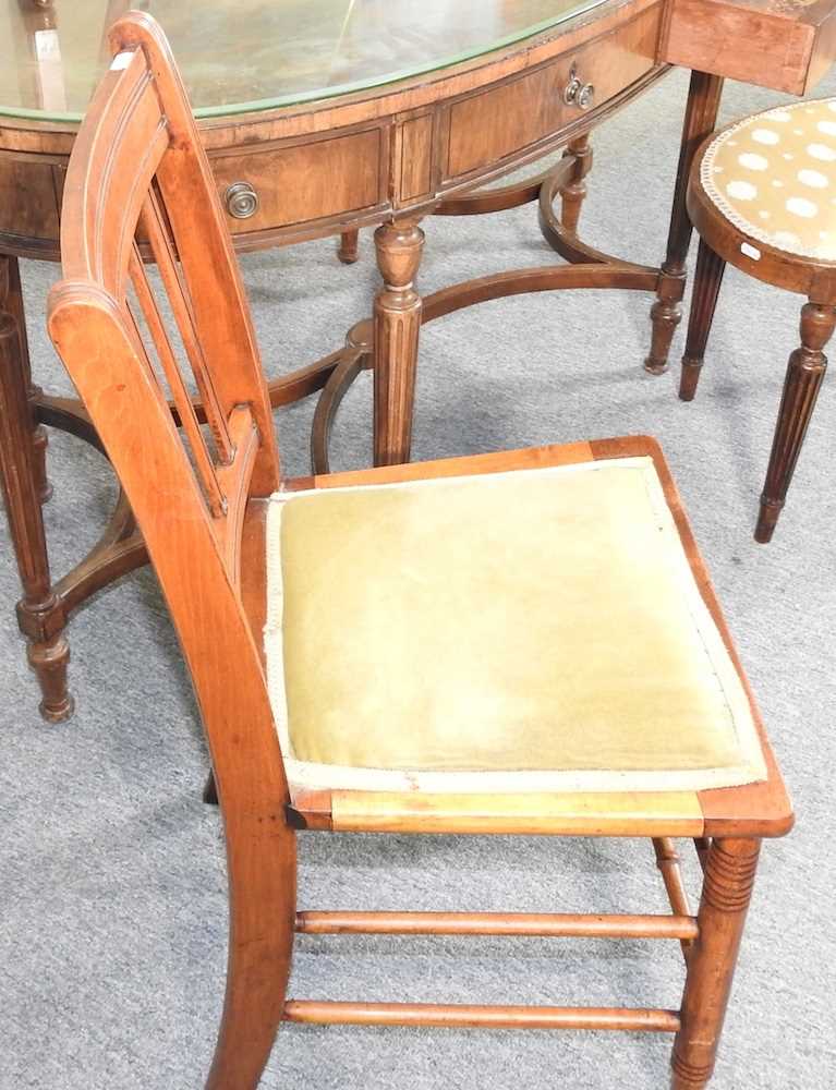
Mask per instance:
[[[584,210],[591,241],[659,258],[684,89],[676,74],[601,130]],[[731,85],[724,116],[775,101]],[[426,226],[424,291],[550,259],[531,206]],[[54,270],[26,264],[24,275],[37,377],[66,388],[43,328]],[[336,263],[326,240],[249,257],[244,276],[271,373],[339,344],[376,283],[366,234],[353,268]],[[647,305],[632,294],[531,295],[427,327],[414,456],[645,432],[662,439],[799,815],[795,833],[764,851],[715,1085],[831,1087],[836,391],[825,383],[775,542],[759,547],[756,497],[799,300],[730,271],[691,405],[675,396],[678,368],[656,379],[641,370]],[[290,473],[306,471],[312,408],[278,414]],[[113,484],[84,445],[54,435],[50,451],[46,519],[61,573],[95,540]],[[368,451],[361,380],[338,422],[336,462],[365,464]],[[12,619],[4,523],[0,535],[0,1087],[192,1090],[203,1085],[222,996],[225,880],[171,626],[147,570],[90,603],[71,626],[77,713],[46,726]],[[665,908],[641,841],[301,840],[302,907]],[[292,993],[676,1006],[680,980],[673,945],[308,938]],[[263,1085],[657,1090],[668,1050],[667,1038],[603,1033],[288,1028]]]

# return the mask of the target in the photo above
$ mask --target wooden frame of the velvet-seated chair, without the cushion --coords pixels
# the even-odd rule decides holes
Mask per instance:
[[[265,514],[276,489],[649,455],[702,596],[739,670],[658,447],[646,438],[606,440],[282,481],[243,287],[167,43],[153,20],[132,14],[114,26],[111,45],[113,66],[93,101],[68,173],[65,280],[50,295],[49,328],[144,534],[211,753],[226,827],[230,943],[226,1004],[207,1088],[255,1087],[283,1020],[670,1032],[676,1034],[671,1086],[699,1090],[714,1066],[761,840],[784,834],[792,822],[763,732],[767,778],[737,788],[495,797],[300,790],[286,778],[262,657]],[[211,444],[140,257],[137,223],[160,269]],[[11,324],[0,329],[0,337],[13,335]],[[295,837],[301,828],[649,837],[671,915],[299,912]],[[695,916],[679,872],[676,836],[693,838],[703,863]],[[296,933],[675,940],[682,945],[687,979],[678,1010],[288,1000]]]

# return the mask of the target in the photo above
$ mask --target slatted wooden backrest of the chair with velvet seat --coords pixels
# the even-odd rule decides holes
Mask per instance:
[[[113,61],[66,174],[64,280],[50,293],[49,331],[145,536],[221,803],[242,792],[253,802],[254,791],[287,789],[240,596],[247,501],[279,485],[267,388],[168,43],[153,19],[132,12],[114,24],[110,45]],[[146,246],[158,280],[146,271]]]

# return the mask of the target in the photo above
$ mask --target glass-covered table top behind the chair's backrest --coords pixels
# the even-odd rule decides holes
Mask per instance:
[[[131,8],[166,32],[195,113],[313,101],[445,68],[604,0],[0,0],[0,114],[80,120]]]

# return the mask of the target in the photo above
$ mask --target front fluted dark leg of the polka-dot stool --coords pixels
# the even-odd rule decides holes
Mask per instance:
[[[754,532],[755,541],[762,544],[772,540],[787,497],[819,397],[819,388],[827,368],[827,356],[822,349],[833,336],[834,326],[836,307],[833,305],[810,302],[801,308],[801,348],[792,352],[787,365],[766,483],[761,494],[761,512]]]

